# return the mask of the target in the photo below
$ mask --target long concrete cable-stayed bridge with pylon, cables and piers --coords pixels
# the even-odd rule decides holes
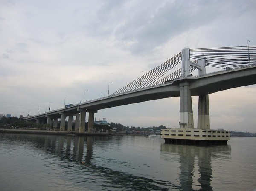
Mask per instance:
[[[181,68],[172,71],[179,63],[181,63]],[[221,70],[207,73],[207,67]],[[191,74],[195,69],[198,69],[197,76]],[[185,130],[186,128],[195,128],[191,96],[198,96],[197,129],[209,130],[210,133],[208,94],[252,84],[256,84],[256,46],[184,48],[179,54],[108,97],[78,103],[68,108],[32,116],[26,120],[53,124],[53,127],[57,128],[60,118],[60,131],[64,131],[65,118],[69,116],[67,131],[72,131],[73,116],[76,116],[75,131],[84,132],[85,115],[89,113],[87,132],[91,133],[93,132],[94,113],[100,109],[167,97],[180,97],[180,128]],[[193,134],[186,138],[191,135]],[[177,140],[176,134],[176,138],[170,138],[170,136],[171,133],[162,134],[167,142]],[[184,136],[186,135],[180,135],[180,140]],[[208,135],[204,134],[204,139],[209,136],[229,136],[230,139],[230,133],[214,135],[211,131]]]

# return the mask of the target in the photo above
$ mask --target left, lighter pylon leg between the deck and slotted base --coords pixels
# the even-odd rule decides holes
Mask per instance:
[[[180,83],[180,128],[194,128],[191,91],[189,83]]]

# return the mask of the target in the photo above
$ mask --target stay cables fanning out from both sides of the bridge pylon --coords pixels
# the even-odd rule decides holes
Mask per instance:
[[[206,66],[221,69],[239,68],[256,64],[256,46],[197,48],[189,49],[189,54],[190,58],[192,59],[200,59],[200,57],[204,57],[202,59],[205,60]],[[171,59],[162,63],[160,66],[157,66],[140,78],[129,83],[127,86],[119,89],[112,95],[139,90],[140,88],[157,86],[164,84],[166,81],[179,78],[181,76],[181,69],[172,72],[166,77],[163,76],[181,61],[182,56],[180,52]],[[194,63],[198,63],[198,60],[195,60]],[[194,71],[195,69],[195,67],[190,66],[190,72]]]

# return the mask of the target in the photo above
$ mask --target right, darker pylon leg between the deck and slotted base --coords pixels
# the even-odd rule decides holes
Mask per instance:
[[[198,129],[210,129],[209,96],[198,98]]]

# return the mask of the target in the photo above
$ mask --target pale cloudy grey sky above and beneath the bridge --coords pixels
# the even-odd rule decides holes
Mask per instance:
[[[255,0],[0,0],[0,114],[107,96],[185,47],[256,45],[255,18]],[[179,105],[166,98],[95,117],[174,128]],[[256,85],[210,94],[209,105],[211,129],[256,132]]]

